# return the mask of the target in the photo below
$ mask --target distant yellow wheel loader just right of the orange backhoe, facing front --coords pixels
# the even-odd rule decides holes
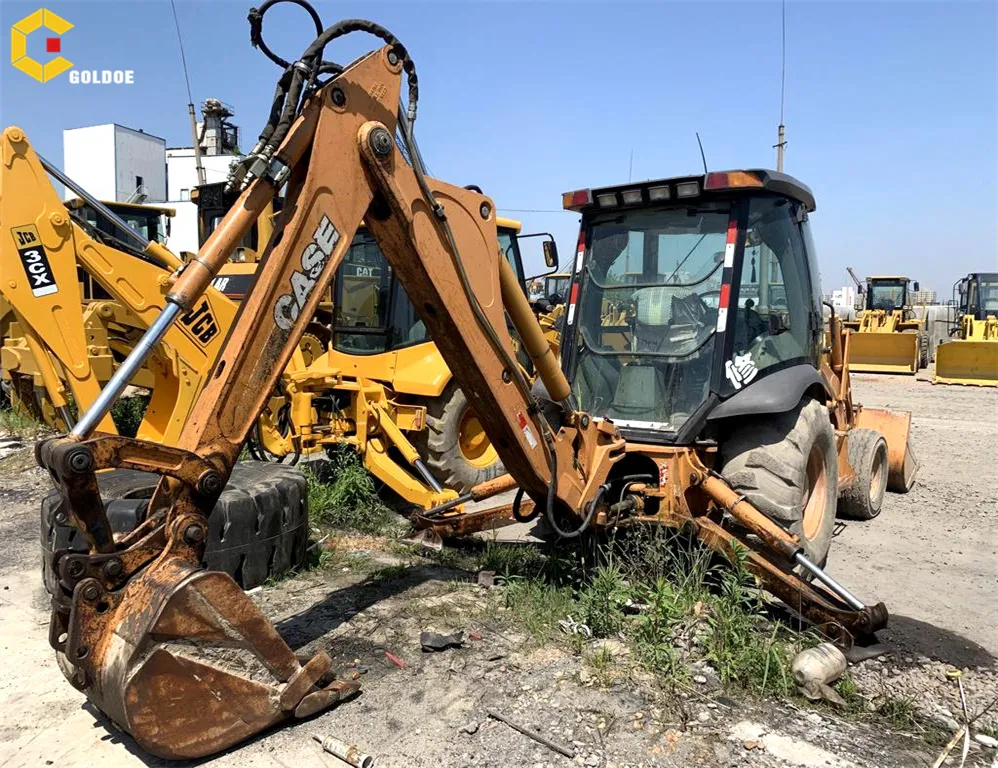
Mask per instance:
[[[908,301],[909,287],[918,283],[907,277],[868,277],[863,310],[856,320],[844,321],[853,331],[850,342],[852,370],[859,373],[915,374],[929,364],[929,335],[922,319]]]

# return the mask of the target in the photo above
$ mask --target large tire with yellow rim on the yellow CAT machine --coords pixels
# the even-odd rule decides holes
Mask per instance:
[[[458,493],[506,471],[455,381],[427,402],[426,429],[416,433],[414,443],[440,484]]]

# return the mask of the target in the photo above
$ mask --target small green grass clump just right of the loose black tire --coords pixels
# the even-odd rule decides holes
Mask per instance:
[[[308,516],[313,526],[375,535],[397,527],[397,516],[378,498],[374,481],[348,446],[331,454],[321,474],[307,465],[302,472],[308,481]]]

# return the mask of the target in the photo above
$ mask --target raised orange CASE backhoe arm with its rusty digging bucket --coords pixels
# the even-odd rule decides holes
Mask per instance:
[[[553,399],[564,404],[569,388],[501,254],[492,201],[421,177],[393,140],[404,70],[410,93],[414,88],[411,69],[397,44],[368,54],[306,101],[272,156],[254,153],[239,200],[186,264],[163,313],[97,403],[69,436],[38,447],[63,514],[90,549],[55,553],[47,578],[56,585],[50,642],[71,682],[154,754],[210,754],[357,688],[330,681],[323,652],[302,664],[231,577],[201,571],[199,563],[207,516],[365,217],[532,499],[591,514],[610,466],[623,456],[623,440],[608,422],[563,407],[562,423],[549,424],[531,395],[506,312]],[[288,98],[297,104],[294,87]],[[178,446],[94,435],[144,355],[197,306],[285,180],[275,237]],[[145,522],[118,540],[95,477],[111,467],[163,476]]]

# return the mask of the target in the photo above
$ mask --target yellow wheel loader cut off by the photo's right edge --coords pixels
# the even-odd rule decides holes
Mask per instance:
[[[934,384],[998,387],[998,272],[974,272],[954,286],[959,319],[936,347]]]

